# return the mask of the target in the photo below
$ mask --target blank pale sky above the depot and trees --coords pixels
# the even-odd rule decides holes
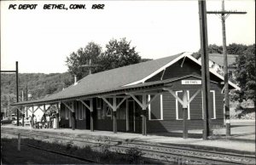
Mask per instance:
[[[9,9],[10,4],[38,4],[36,9]],[[66,9],[43,9],[65,4]],[[86,9],[69,9],[85,4]],[[104,9],[91,9],[104,4]],[[226,20],[227,44],[255,43],[255,2],[225,1],[225,9],[247,11]],[[221,1],[207,1],[207,11]],[[207,14],[208,43],[222,45],[221,20]],[[105,49],[113,38],[126,37],[142,58],[159,59],[200,48],[198,1],[1,1],[1,70],[20,73],[67,71],[72,52],[95,42]]]

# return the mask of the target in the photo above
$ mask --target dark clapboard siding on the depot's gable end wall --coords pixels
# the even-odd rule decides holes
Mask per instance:
[[[193,64],[190,60],[185,60],[183,62],[183,67],[181,67],[182,60],[179,60],[176,64],[166,68],[163,79],[168,78],[179,78],[189,75],[196,77],[188,77],[186,79],[201,80],[201,66]],[[156,75],[149,81],[158,80],[160,76]],[[211,81],[219,82],[216,76],[211,74]],[[216,107],[216,119],[211,120],[211,127],[215,125],[224,124],[224,111],[223,111],[223,95],[221,94],[221,87],[219,83],[210,83],[211,90],[215,91],[215,107]],[[182,85],[181,80],[172,83],[172,90],[189,90],[189,98],[195,94],[197,89],[201,88],[201,85]],[[182,99],[182,98],[181,98]],[[188,120],[189,129],[202,129],[202,98],[201,93],[198,94],[195,99],[189,104],[190,108],[190,119]],[[172,94],[165,92],[163,94],[163,120],[157,121],[147,121],[148,132],[170,132],[172,130],[182,130],[183,120],[176,120],[176,99]]]

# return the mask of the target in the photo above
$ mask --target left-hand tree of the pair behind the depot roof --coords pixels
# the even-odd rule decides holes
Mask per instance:
[[[78,79],[81,79],[88,75],[88,68],[83,67],[82,65],[88,65],[89,60],[93,64],[98,63],[99,55],[102,54],[102,47],[96,43],[90,42],[85,48],[79,48],[79,50],[75,53],[67,57],[66,63],[68,67],[68,71],[72,75],[76,75]],[[92,69],[94,71],[94,69]]]

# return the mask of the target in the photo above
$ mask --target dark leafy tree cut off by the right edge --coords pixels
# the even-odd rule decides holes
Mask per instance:
[[[253,100],[255,105],[255,44],[248,46],[247,49],[238,56],[236,69],[236,81],[241,87],[239,92],[240,101]]]

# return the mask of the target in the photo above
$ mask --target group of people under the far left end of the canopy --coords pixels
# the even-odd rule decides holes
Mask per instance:
[[[30,120],[31,127],[32,128],[53,128],[55,114],[45,114],[43,117],[33,117],[33,123],[32,123],[32,117]]]

